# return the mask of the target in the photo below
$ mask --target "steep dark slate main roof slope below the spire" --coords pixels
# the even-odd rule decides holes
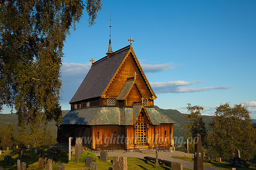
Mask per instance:
[[[101,96],[129,50],[127,48],[94,64],[69,103]]]

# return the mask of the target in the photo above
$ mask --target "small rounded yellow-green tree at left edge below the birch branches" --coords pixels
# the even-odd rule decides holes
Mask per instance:
[[[3,147],[9,147],[13,145],[14,142],[14,130],[13,126],[9,123],[7,124],[3,129],[0,131],[0,141],[1,146]]]

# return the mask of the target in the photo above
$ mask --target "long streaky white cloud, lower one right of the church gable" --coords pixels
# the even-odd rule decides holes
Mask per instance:
[[[203,87],[203,88],[186,88],[183,86],[193,85],[202,83],[203,81],[169,81],[169,82],[151,82],[150,85],[156,93],[192,93],[200,91],[210,91],[210,90],[219,90],[219,89],[230,89],[232,87],[228,86],[218,86],[218,87]]]

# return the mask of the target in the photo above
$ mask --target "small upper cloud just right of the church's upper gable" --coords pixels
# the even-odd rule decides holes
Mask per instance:
[[[145,73],[162,72],[167,69],[173,69],[173,62],[165,64],[140,64]]]

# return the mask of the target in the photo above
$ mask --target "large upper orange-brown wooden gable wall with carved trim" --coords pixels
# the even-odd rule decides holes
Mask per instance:
[[[138,74],[136,75],[136,82],[141,88],[145,99],[156,98],[132,49],[127,53],[116,74],[113,76],[111,82],[101,96],[104,95],[104,97],[117,98],[127,79],[134,77],[133,74],[135,72]]]

